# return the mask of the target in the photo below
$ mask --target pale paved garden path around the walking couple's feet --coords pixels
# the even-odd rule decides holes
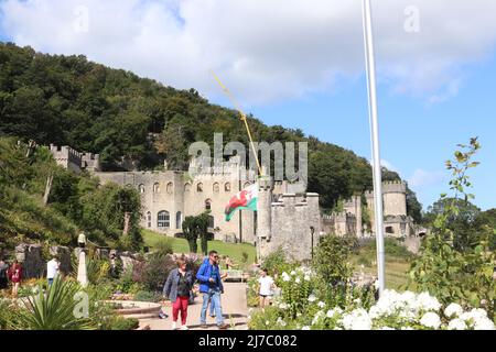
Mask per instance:
[[[247,330],[248,307],[246,298],[245,283],[224,283],[225,294],[222,297],[224,320],[233,326],[235,330]],[[195,304],[188,307],[187,326],[191,330],[202,330],[200,327],[200,312],[202,310],[202,296],[198,296]],[[172,311],[170,307],[164,308],[169,316],[166,319],[143,319],[140,320],[140,328],[149,326],[150,330],[171,330]],[[181,320],[181,318],[180,318]],[[207,315],[206,330],[217,330],[215,319]]]

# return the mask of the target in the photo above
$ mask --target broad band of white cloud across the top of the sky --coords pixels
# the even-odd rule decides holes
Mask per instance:
[[[75,30],[77,7],[88,32]],[[408,7],[419,32],[405,31]],[[496,42],[494,0],[374,1],[381,84],[439,102]],[[3,0],[2,31],[20,45],[130,69],[207,96],[214,69],[238,100],[262,103],[335,89],[363,73],[360,1]]]

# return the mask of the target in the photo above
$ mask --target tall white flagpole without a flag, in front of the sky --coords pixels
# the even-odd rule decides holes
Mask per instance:
[[[370,0],[363,0],[365,61],[367,66],[368,110],[371,135],[374,168],[374,207],[376,216],[377,276],[379,295],[385,289],[384,217],[382,217],[382,175],[379,151],[379,123],[377,117],[376,63],[374,56],[374,35]]]

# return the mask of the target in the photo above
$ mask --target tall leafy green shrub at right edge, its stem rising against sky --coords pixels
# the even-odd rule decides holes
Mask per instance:
[[[423,241],[419,257],[412,263],[410,287],[427,290],[442,302],[470,302],[474,307],[485,308],[494,318],[496,301],[496,280],[493,277],[496,254],[490,251],[490,239],[495,229],[487,228],[479,233],[471,246],[456,245],[465,242],[465,234],[451,228],[451,223],[461,217],[461,204],[468,204],[473,195],[466,193],[471,187],[468,169],[478,165],[472,157],[479,150],[477,139],[470,145],[460,145],[454,153],[455,160],[446,162],[446,168],[453,178],[450,188],[455,198],[441,195],[442,209],[433,221],[430,235]]]

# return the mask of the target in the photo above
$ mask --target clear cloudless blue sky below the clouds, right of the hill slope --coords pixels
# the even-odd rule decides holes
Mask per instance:
[[[444,162],[453,158],[456,144],[478,136],[482,164],[471,170],[482,209],[496,207],[496,55],[466,69],[456,97],[439,103],[395,95],[379,85],[381,158],[397,170],[424,207],[449,190]],[[228,103],[223,101],[223,103]],[[365,76],[332,94],[281,102],[250,111],[269,124],[301,128],[327,142],[370,158],[370,132]],[[419,172],[421,170],[421,172]],[[416,175],[417,178],[412,179]]]

